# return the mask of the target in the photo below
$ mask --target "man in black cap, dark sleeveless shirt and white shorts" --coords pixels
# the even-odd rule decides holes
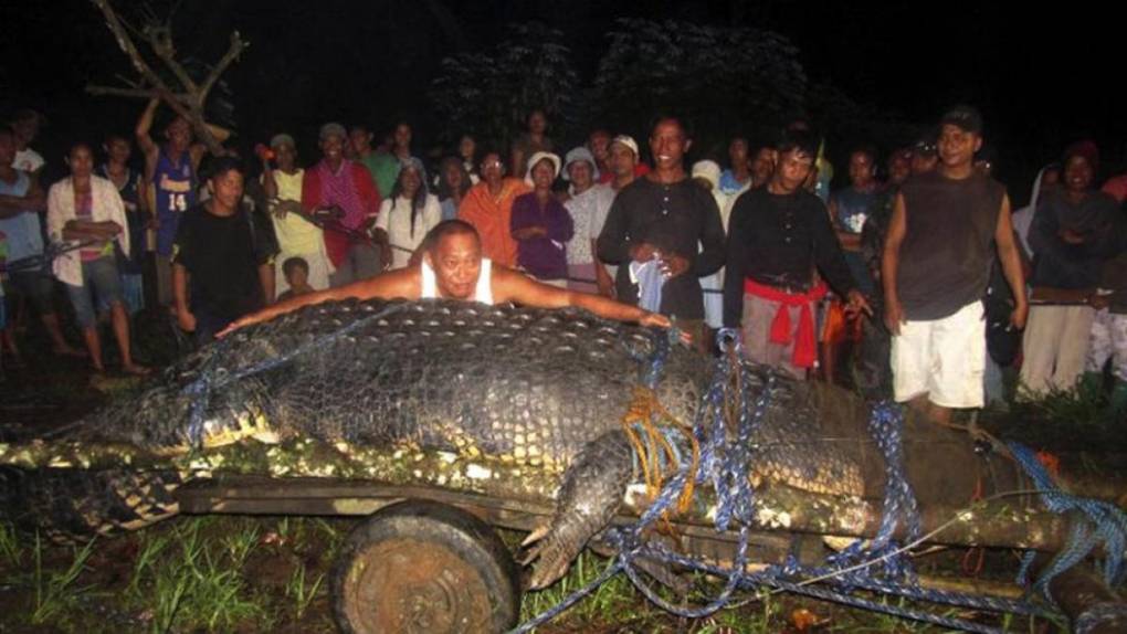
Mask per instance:
[[[1013,292],[1013,328],[1026,324],[1021,256],[1005,188],[974,168],[982,116],[959,106],[940,120],[939,168],[900,189],[885,240],[885,325],[893,333],[898,402],[941,423],[980,408],[986,369],[983,295],[996,247]],[[902,257],[903,255],[903,257]]]

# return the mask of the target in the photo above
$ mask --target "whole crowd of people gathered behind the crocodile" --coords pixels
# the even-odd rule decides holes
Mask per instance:
[[[507,148],[464,135],[436,162],[407,123],[382,139],[326,123],[302,167],[284,132],[252,161],[208,155],[181,117],[158,141],[159,111],[152,100],[133,139],[73,144],[50,187],[32,149],[42,117],[0,128],[0,359],[21,363],[28,312],[56,355],[96,372],[108,322],[122,369],[145,374],[130,328],[147,304],[203,345],[326,298],[454,297],[675,325],[702,354],[728,329],[796,379],[844,381],[939,421],[1004,402],[1004,368],[1036,398],[1102,389],[1110,361],[1110,403],[1127,413],[1127,176],[1098,188],[1090,141],[1011,213],[966,106],[887,157],[857,146],[835,190],[802,119],[770,142],[731,139],[725,166],[690,164],[692,132],[672,116],[654,122],[648,161],[603,128],[558,152],[541,110]],[[206,132],[212,148],[230,136]]]

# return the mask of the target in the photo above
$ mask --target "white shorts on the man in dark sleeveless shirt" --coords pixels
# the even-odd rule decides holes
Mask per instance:
[[[950,316],[908,321],[893,337],[893,392],[899,402],[926,394],[943,408],[983,407],[986,321],[982,302]]]

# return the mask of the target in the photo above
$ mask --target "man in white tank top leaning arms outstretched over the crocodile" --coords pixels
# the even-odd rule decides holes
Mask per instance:
[[[576,306],[603,319],[669,328],[668,318],[638,306],[587,293],[557,288],[481,257],[481,240],[465,221],[438,223],[423,242],[418,265],[396,269],[347,286],[301,295],[247,315],[220,333],[227,333],[295,311],[302,306],[348,298],[459,300],[500,304],[513,302],[540,309]]]

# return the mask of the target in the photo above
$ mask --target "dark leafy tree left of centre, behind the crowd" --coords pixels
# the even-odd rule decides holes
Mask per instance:
[[[507,144],[534,108],[548,115],[553,134],[568,134],[582,108],[579,90],[564,34],[530,23],[509,27],[491,51],[444,59],[429,97],[446,141],[469,133]]]

